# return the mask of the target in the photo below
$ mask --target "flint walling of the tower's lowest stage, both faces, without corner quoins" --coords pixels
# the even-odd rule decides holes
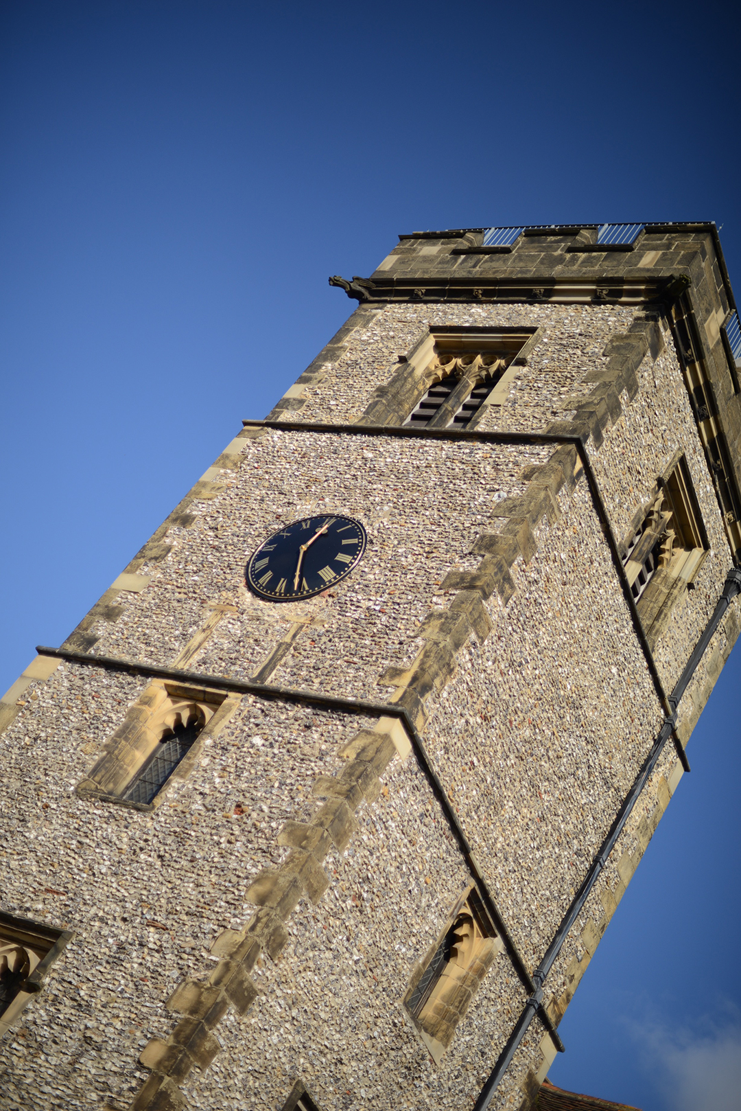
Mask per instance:
[[[343,742],[373,725],[247,695],[156,812],[76,798],[76,783],[143,687],[120,672],[62,663],[32,684],[2,734],[12,790],[0,818],[3,908],[76,934],[43,994],[0,1043],[2,1108],[127,1105],[148,1075],[139,1052],[174,1025],[166,1007],[173,989],[208,978],[214,938],[243,925],[254,910],[250,882],[288,852],[279,830],[311,818],[313,781],[338,773]],[[253,1009],[218,1028],[224,1051],[187,1089],[192,1105],[272,1109],[302,1075],[328,1109],[347,1108],[348,1090],[353,1105],[391,1105],[401,1089],[421,1111],[432,1095],[442,1105],[452,1099],[460,1070],[473,1092],[493,1064],[492,1043],[524,1000],[505,958],[440,1070],[429,1069],[401,1007],[414,962],[471,883],[413,758],[392,763],[359,819],[347,851],[326,859],[323,899],[289,919],[278,964],[258,960]],[[389,1054],[383,1069],[369,1058],[369,1039]]]

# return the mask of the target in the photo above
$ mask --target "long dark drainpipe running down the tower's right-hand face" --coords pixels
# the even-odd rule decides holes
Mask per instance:
[[[633,785],[631,787],[630,791],[623,799],[622,805],[620,807],[620,810],[618,811],[615,819],[610,828],[610,832],[602,842],[602,845],[597,857],[590,864],[589,871],[587,872],[587,875],[584,877],[582,884],[579,888],[579,891],[574,895],[574,899],[571,902],[571,905],[569,907],[568,911],[563,915],[561,923],[558,930],[555,931],[553,940],[545,950],[545,955],[543,957],[542,961],[540,962],[540,964],[532,974],[532,980],[533,983],[535,984],[535,991],[528,999],[524,1009],[522,1010],[522,1013],[520,1014],[520,1018],[518,1019],[514,1029],[512,1030],[512,1033],[510,1034],[507,1044],[504,1045],[504,1049],[500,1053],[499,1059],[497,1060],[497,1063],[492,1069],[489,1079],[481,1089],[479,1098],[473,1107],[473,1111],[485,1111],[485,1109],[491,1103],[492,1097],[497,1090],[499,1081],[502,1079],[505,1070],[511,1063],[512,1058],[514,1057],[520,1042],[525,1035],[528,1027],[532,1022],[539,1009],[543,1005],[543,983],[545,981],[545,977],[551,971],[555,962],[555,959],[558,958],[561,951],[563,942],[565,941],[569,934],[569,931],[571,930],[572,925],[579,918],[584,907],[584,903],[587,902],[587,899],[592,888],[594,887],[594,883],[597,882],[597,878],[599,877],[600,872],[607,864],[610,852],[614,848],[614,844],[618,838],[620,837],[620,833],[622,832],[623,827],[625,825],[625,822],[628,821],[641,791],[645,787],[645,783],[648,782],[651,772],[655,768],[659,757],[663,751],[664,744],[672,735],[677,727],[677,708],[679,707],[682,694],[687,690],[689,682],[692,679],[692,675],[697,671],[698,664],[700,663],[700,660],[702,659],[705,649],[708,648],[708,644],[710,643],[712,637],[717,632],[718,627],[723,618],[723,614],[725,613],[727,609],[729,608],[733,599],[740,593],[741,593],[741,568],[732,567],[731,570],[728,572],[728,575],[725,577],[723,593],[718,600],[718,604],[715,605],[713,614],[710,618],[708,624],[705,625],[702,635],[700,637],[700,640],[695,644],[694,651],[690,655],[690,659],[688,660],[687,665],[679,678],[679,682],[677,683],[674,690],[672,691],[672,693],[668,699],[671,713],[669,717],[664,718],[663,724],[659,730],[659,735],[653,742],[653,745],[651,747],[651,751],[649,752],[648,757],[643,761],[641,770],[635,777]]]

